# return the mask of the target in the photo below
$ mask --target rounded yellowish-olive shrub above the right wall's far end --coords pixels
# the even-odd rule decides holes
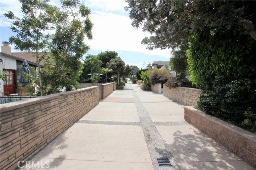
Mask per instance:
[[[153,68],[147,71],[149,78],[150,78],[150,82],[152,84],[157,84],[157,83],[161,83],[162,86],[163,84],[166,83],[166,81],[168,80],[168,78],[170,78],[170,73],[167,69],[157,69],[157,68]]]

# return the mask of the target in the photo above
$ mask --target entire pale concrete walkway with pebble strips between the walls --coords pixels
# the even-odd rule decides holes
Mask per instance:
[[[183,110],[181,104],[128,83],[30,162],[58,170],[253,170],[186,123]],[[160,168],[159,157],[168,157],[172,167]]]

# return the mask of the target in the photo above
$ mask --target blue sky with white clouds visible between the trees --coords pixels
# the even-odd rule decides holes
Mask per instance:
[[[125,0],[81,0],[91,10],[90,20],[92,21],[92,40],[85,40],[90,46],[86,55],[97,55],[104,51],[116,51],[118,56],[129,65],[143,67],[143,63],[153,61],[169,61],[170,49],[148,50],[141,41],[149,37],[150,33],[143,32],[141,28],[132,27],[132,20],[129,13],[124,10],[127,6]],[[51,0],[50,4],[60,7],[59,0]],[[4,17],[4,13],[12,11],[14,15],[22,18],[18,0],[0,0],[0,42],[8,41],[8,38],[15,35],[9,28],[12,20]],[[2,45],[2,44],[1,44]],[[12,52],[21,52],[12,47]],[[84,55],[84,58],[85,56]]]

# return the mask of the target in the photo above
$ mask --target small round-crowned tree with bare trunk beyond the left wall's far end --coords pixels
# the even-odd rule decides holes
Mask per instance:
[[[125,63],[120,57],[116,57],[111,59],[109,63],[107,63],[108,67],[111,68],[117,74],[117,81],[119,84],[119,75],[124,75]]]

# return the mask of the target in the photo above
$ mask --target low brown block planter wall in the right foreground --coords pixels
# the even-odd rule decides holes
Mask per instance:
[[[193,106],[184,107],[184,119],[256,168],[255,134],[216,117],[206,115],[204,112],[193,108]]]

